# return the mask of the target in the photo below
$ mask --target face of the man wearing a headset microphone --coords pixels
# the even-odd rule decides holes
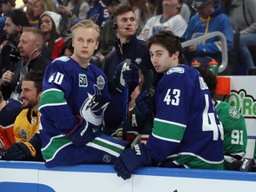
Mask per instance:
[[[135,20],[134,12],[126,12],[116,16],[118,26],[117,33],[120,37],[133,36],[138,28],[138,22]]]

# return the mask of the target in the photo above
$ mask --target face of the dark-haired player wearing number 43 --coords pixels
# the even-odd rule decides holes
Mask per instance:
[[[172,55],[161,44],[152,44],[149,48],[151,62],[157,73],[165,73],[170,68],[177,66],[179,53]]]

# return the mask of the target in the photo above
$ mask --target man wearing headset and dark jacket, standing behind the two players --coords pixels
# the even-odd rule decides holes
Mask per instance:
[[[156,84],[158,76],[153,68],[145,41],[137,39],[135,35],[138,22],[132,7],[128,4],[119,4],[113,13],[114,27],[116,28],[117,41],[115,50],[110,52],[105,60],[104,72],[108,76],[110,92],[115,90],[114,76],[119,63],[131,60],[132,63],[140,63],[145,68],[152,69],[155,73],[152,78]]]

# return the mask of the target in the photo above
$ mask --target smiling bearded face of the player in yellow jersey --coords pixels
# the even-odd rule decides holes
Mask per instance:
[[[34,108],[40,100],[40,94],[37,94],[36,87],[32,81],[23,81],[21,85],[20,97],[22,108]]]

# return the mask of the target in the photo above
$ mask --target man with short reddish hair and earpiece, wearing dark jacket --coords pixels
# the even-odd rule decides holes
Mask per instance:
[[[51,62],[44,58],[44,33],[39,28],[23,28],[18,49],[22,60],[15,63],[13,71],[7,70],[2,76],[2,93],[4,99],[11,95],[13,99],[20,98],[20,85],[29,70],[39,70],[44,73],[46,66]]]

